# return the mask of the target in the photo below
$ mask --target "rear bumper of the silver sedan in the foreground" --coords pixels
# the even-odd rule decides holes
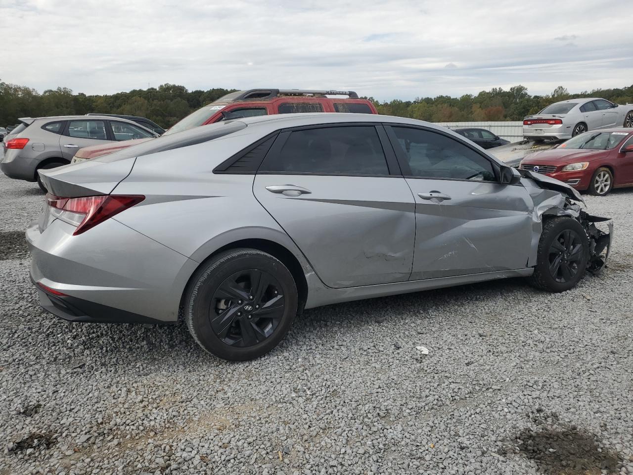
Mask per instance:
[[[169,323],[197,263],[109,219],[78,236],[54,220],[26,232],[42,307],[75,322]],[[56,295],[61,293],[62,295]]]

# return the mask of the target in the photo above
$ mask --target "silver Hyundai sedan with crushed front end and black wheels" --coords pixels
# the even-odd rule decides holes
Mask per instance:
[[[399,117],[228,120],[40,174],[42,307],[184,319],[228,360],[272,350],[304,308],[503,277],[566,291],[612,235],[572,187]]]

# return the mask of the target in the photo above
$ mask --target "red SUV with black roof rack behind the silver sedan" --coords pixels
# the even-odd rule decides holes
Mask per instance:
[[[328,98],[327,96],[347,96]],[[168,129],[163,136],[193,129],[200,125],[213,124],[256,115],[291,114],[298,112],[351,112],[377,114],[371,101],[359,99],[354,91],[316,91],[306,89],[249,89],[231,92],[217,101],[199,108]],[[97,156],[151,140],[128,140],[125,143],[96,145],[77,151],[72,163],[82,162]]]

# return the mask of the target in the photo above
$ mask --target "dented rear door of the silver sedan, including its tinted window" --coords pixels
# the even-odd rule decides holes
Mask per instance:
[[[408,280],[415,204],[382,126],[322,125],[280,133],[253,192],[327,286]]]

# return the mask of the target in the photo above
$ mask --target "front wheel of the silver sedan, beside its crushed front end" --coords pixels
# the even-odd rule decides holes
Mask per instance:
[[[587,262],[589,239],[582,225],[568,217],[549,219],[543,224],[530,284],[548,292],[564,292],[582,279]]]

